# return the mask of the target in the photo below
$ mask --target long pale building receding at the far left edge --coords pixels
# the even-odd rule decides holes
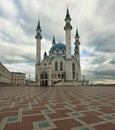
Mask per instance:
[[[0,86],[11,84],[10,71],[0,62]]]

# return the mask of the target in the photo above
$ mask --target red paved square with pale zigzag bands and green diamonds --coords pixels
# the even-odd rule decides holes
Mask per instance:
[[[0,87],[0,130],[115,130],[115,87]]]

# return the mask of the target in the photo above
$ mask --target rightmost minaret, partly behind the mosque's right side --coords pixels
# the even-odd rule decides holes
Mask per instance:
[[[79,41],[79,38],[80,38],[80,37],[79,37],[79,34],[78,34],[78,29],[76,29],[75,42],[74,42],[74,45],[75,45],[75,49],[74,49],[75,53],[74,53],[74,55],[75,55],[75,57],[76,57],[78,63],[80,64],[80,55],[79,55],[79,45],[80,45],[80,41]]]

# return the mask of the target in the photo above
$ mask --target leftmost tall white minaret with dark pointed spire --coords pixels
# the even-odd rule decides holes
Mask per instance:
[[[41,27],[40,27],[40,21],[38,20],[38,26],[36,29],[36,64],[39,65],[41,62]]]

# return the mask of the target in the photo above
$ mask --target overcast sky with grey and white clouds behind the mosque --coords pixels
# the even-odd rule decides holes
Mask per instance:
[[[78,28],[82,75],[91,82],[115,83],[115,0],[0,0],[0,61],[34,79],[36,27],[40,19],[42,55],[52,37],[65,44],[67,5],[74,36]]]

